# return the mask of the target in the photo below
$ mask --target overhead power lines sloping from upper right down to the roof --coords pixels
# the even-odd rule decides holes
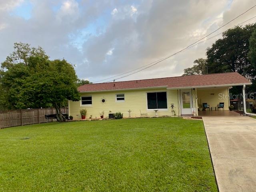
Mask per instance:
[[[154,62],[151,62],[150,64],[144,65],[144,66],[139,67],[139,68],[136,68],[136,69],[134,69],[134,70],[130,70],[130,71],[128,71],[128,72],[124,72],[124,73],[122,73],[122,74],[119,74],[119,75],[116,75],[116,76],[112,76],[112,77],[109,77],[109,78],[105,78],[105,79],[103,79],[103,80],[96,81],[96,82],[101,82],[101,81],[108,80],[108,79],[112,79],[112,80],[107,81],[107,82],[112,82],[112,81],[113,81],[113,78],[118,77],[118,76],[121,76],[121,77],[116,78],[116,79],[114,79],[114,80],[118,80],[118,79],[121,79],[121,78],[125,78],[125,77],[127,77],[127,76],[130,76],[130,75],[133,75],[133,74],[135,74],[135,73],[138,73],[138,72],[140,72],[140,71],[142,71],[142,70],[146,70],[147,68],[150,68],[150,67],[152,67],[152,66],[155,66],[156,64],[158,64],[158,63],[160,63],[160,62],[162,62],[162,61],[164,61],[164,60],[166,60],[166,59],[168,59],[168,58],[170,58],[170,57],[172,57],[172,56],[174,56],[174,55],[176,55],[176,54],[179,54],[179,53],[181,53],[181,52],[184,52],[185,50],[188,50],[188,49],[190,49],[190,48],[192,48],[192,47],[194,47],[194,46],[196,46],[196,45],[198,45],[198,44],[200,44],[200,43],[202,43],[202,42],[205,42],[206,40],[210,40],[210,39],[212,39],[212,38],[214,38],[214,37],[216,37],[216,36],[222,34],[223,32],[221,32],[221,33],[219,33],[219,34],[217,34],[217,35],[215,35],[215,36],[212,36],[212,37],[210,37],[210,38],[208,38],[208,39],[202,41],[204,38],[210,36],[211,34],[215,33],[216,31],[220,30],[221,28],[223,28],[224,26],[228,25],[230,22],[236,20],[236,19],[239,18],[240,16],[244,15],[246,12],[248,12],[249,10],[251,10],[251,9],[254,8],[254,7],[256,7],[256,5],[252,6],[251,8],[249,8],[248,10],[246,10],[245,12],[243,12],[242,14],[236,16],[234,19],[230,20],[230,21],[227,22],[226,24],[220,26],[218,29],[216,29],[216,30],[214,30],[213,32],[211,32],[210,34],[204,36],[204,37],[201,38],[200,40],[197,40],[196,42],[190,44],[190,45],[187,46],[186,48],[183,48],[182,50],[180,50],[180,51],[178,51],[178,52],[176,52],[176,53],[174,53],[174,54],[172,54],[172,55],[170,55],[170,56],[166,56],[165,58],[156,60],[156,61],[154,61]],[[252,20],[252,19],[254,19],[254,18],[256,18],[256,16],[254,16],[253,18],[250,18],[250,19],[248,19],[248,20],[246,20],[246,21],[244,21],[244,22],[238,24],[238,26],[241,25],[241,24],[244,24],[245,22],[248,22],[248,21],[250,21],[250,20]],[[234,26],[234,27],[236,27],[236,26]],[[232,27],[232,28],[234,28],[234,27]],[[229,29],[232,29],[232,28],[229,28]],[[228,30],[229,30],[229,29],[228,29]],[[226,30],[226,31],[227,31],[227,30]],[[224,32],[225,32],[225,31],[224,31]],[[130,73],[130,72],[133,72],[133,73]],[[130,74],[128,74],[128,73],[130,73]],[[122,76],[122,75],[124,75],[124,74],[127,74],[127,75]],[[96,82],[94,82],[94,83],[96,83]]]

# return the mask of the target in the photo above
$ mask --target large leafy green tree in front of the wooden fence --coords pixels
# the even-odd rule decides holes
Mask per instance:
[[[11,54],[15,60],[7,57],[2,63],[0,88],[5,96],[0,98],[0,104],[15,109],[54,107],[57,120],[64,121],[61,106],[66,100],[80,100],[74,67],[66,60],[49,60],[41,48],[38,51],[26,44],[20,48],[16,50],[19,54]]]

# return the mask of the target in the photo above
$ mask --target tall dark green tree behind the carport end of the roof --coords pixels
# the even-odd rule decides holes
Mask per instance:
[[[256,24],[236,27],[222,34],[207,49],[209,73],[239,72],[250,80],[255,79],[256,68],[248,59],[249,39],[256,29]]]

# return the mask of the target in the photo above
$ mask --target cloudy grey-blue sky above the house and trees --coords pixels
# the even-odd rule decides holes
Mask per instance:
[[[29,43],[42,46],[52,60],[65,58],[76,66],[79,78],[96,82],[171,55],[254,4],[255,0],[0,0],[0,62],[13,51],[14,42]],[[216,34],[253,16],[256,8]],[[215,40],[120,80],[180,76],[195,59],[206,57],[206,48]]]

